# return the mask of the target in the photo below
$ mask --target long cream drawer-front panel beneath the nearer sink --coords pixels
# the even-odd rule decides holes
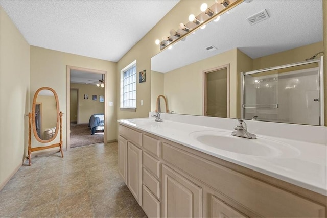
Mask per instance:
[[[164,161],[175,165],[263,217],[325,217],[326,215],[326,208],[323,205],[232,171],[171,144],[162,143]]]

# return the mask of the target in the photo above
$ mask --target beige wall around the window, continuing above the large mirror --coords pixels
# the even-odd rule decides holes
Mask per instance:
[[[116,105],[117,118],[137,118],[147,117],[151,110],[151,57],[160,52],[159,46],[154,43],[156,39],[168,36],[169,31],[178,29],[180,22],[188,22],[190,14],[200,14],[202,1],[181,0],[157,25],[155,25],[141,40],[139,40],[130,51],[128,51],[117,63],[117,80],[120,84],[120,70],[136,60],[137,84],[136,84],[136,112],[122,111],[120,105]],[[208,1],[208,5],[213,5],[214,1]],[[147,71],[146,82],[138,83],[138,72]],[[116,89],[116,98],[120,101],[120,87]],[[143,100],[143,106],[141,106]],[[169,108],[174,110],[173,108]]]

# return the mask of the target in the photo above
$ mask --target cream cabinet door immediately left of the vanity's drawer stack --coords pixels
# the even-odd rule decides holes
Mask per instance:
[[[128,142],[128,188],[142,206],[142,150]]]

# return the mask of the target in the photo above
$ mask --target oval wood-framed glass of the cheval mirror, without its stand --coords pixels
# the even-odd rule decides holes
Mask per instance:
[[[35,138],[40,142],[52,141],[59,125],[58,97],[53,89],[42,88],[35,93],[32,115]]]

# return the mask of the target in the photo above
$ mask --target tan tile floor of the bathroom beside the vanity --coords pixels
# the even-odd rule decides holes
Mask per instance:
[[[0,191],[0,217],[146,217],[117,164],[116,142],[33,156]]]

